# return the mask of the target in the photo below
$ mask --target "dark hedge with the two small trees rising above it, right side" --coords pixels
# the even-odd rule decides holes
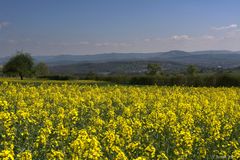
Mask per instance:
[[[103,80],[130,85],[193,86],[193,87],[232,87],[240,86],[240,76],[221,71],[200,74],[195,65],[188,65],[184,74],[166,74],[159,64],[147,65],[145,75],[97,75],[88,74],[86,79]]]

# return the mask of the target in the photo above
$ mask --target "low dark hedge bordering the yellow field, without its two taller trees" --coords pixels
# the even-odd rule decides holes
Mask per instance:
[[[95,79],[97,80],[97,79]],[[98,80],[131,85],[193,86],[193,87],[231,87],[240,86],[240,77],[230,74],[213,75],[138,75],[138,76],[98,76]]]

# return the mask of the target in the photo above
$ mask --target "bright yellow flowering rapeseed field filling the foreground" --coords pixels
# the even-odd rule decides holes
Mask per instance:
[[[0,85],[0,159],[240,158],[240,88]]]

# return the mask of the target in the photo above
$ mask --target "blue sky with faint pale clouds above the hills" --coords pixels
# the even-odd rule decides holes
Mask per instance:
[[[239,0],[1,0],[0,56],[240,50]]]

